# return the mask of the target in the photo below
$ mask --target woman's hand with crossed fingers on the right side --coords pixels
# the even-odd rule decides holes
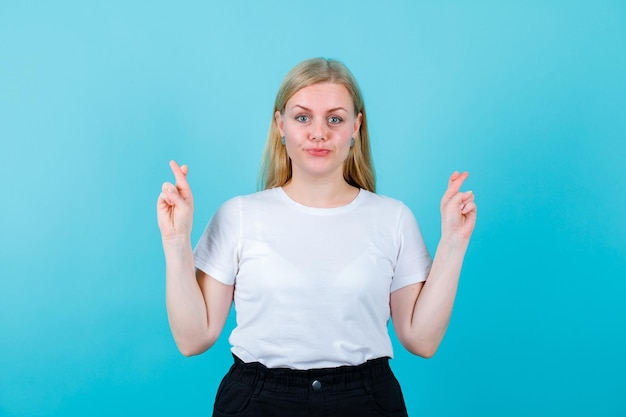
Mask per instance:
[[[448,181],[448,189],[441,199],[441,237],[469,240],[476,224],[474,193],[461,192],[468,172],[455,171]]]

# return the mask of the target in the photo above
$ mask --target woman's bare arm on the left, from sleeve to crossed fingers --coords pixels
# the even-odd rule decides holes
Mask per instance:
[[[217,340],[233,300],[233,285],[195,270],[191,248],[193,196],[188,168],[174,161],[176,184],[163,184],[157,219],[165,253],[167,315],[176,345],[185,356],[209,349]]]

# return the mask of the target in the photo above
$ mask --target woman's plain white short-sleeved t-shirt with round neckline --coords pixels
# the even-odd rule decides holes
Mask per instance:
[[[281,187],[224,203],[194,257],[235,285],[232,352],[292,369],[392,357],[389,294],[424,281],[431,265],[400,201],[360,190],[345,206],[312,208]]]

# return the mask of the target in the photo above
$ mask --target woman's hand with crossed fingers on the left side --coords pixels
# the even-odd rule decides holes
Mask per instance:
[[[157,200],[157,220],[163,240],[190,239],[193,223],[193,195],[187,182],[187,165],[170,161],[176,184],[163,183]]]

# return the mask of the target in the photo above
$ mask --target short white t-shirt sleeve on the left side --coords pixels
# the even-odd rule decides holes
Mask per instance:
[[[215,212],[193,251],[195,267],[233,285],[239,269],[241,199],[228,200]]]

